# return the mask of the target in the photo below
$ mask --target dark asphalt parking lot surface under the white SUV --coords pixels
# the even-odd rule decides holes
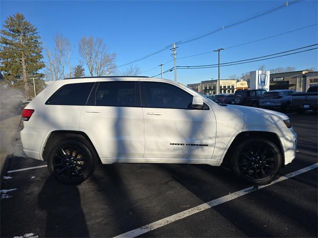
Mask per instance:
[[[59,183],[46,167],[9,172],[1,189],[14,190],[1,195],[0,235],[317,237],[317,166],[293,172],[318,162],[318,117],[290,118],[298,153],[281,170],[284,179],[243,195],[250,184],[209,165],[99,164],[78,186]],[[8,170],[40,165],[13,157]]]

